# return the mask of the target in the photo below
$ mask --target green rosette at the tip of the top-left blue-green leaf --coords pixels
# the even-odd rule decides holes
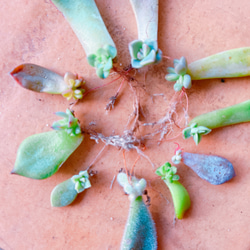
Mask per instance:
[[[117,55],[117,50],[111,45],[105,45],[96,51],[95,54],[88,56],[88,63],[96,68],[96,74],[104,79],[107,78],[113,68],[113,59]]]

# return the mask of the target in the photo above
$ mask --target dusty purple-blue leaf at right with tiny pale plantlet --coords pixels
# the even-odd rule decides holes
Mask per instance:
[[[193,154],[177,149],[172,162],[174,164],[183,162],[200,178],[213,185],[223,184],[235,176],[232,163],[217,155]]]

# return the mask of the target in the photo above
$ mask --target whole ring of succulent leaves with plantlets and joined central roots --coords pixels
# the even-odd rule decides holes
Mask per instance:
[[[88,134],[97,143],[102,141],[105,144],[86,170],[73,175],[53,189],[52,206],[67,206],[76,199],[79,193],[91,187],[91,176],[95,172],[90,168],[108,145],[123,152],[135,150],[138,153],[137,160],[142,156],[155,168],[155,164],[144,152],[147,140],[157,139],[159,143],[164,142],[177,127],[182,128],[181,134],[184,139],[193,138],[195,144],[198,145],[202,136],[212,132],[213,129],[250,121],[250,100],[247,100],[205,113],[188,122],[187,94],[188,89],[192,87],[192,80],[250,75],[249,47],[224,51],[190,64],[185,57],[175,59],[173,67],[167,68],[168,74],[165,77],[167,81],[175,82],[173,99],[167,107],[165,116],[157,122],[142,123],[140,117],[143,116],[143,110],[138,97],[139,81],[136,76],[141,68],[158,64],[166,58],[157,43],[158,1],[130,0],[136,16],[138,39],[129,43],[131,64],[123,69],[116,66],[117,48],[94,0],[72,2],[52,0],[52,3],[71,25],[85,50],[89,65],[95,68],[97,76],[101,79],[117,76],[102,86],[86,91],[84,78],[71,72],[66,72],[64,76],[61,76],[35,64],[22,64],[11,71],[11,76],[28,90],[61,94],[68,101],[74,99],[65,112],[56,113],[62,119],[53,123],[53,131],[32,135],[21,143],[13,174],[33,179],[45,179],[52,176],[82,143],[84,134]],[[82,131],[80,122],[73,111],[74,105],[77,105],[79,100],[84,99],[89,93],[119,79],[121,80],[120,87],[110,98],[105,109],[110,111],[115,108],[121,87],[126,82],[134,96],[134,109],[128,120],[131,126],[124,130],[122,135],[104,136],[92,130]],[[149,133],[138,137],[136,132],[142,126],[148,127]],[[178,138],[178,136],[180,134],[173,138]],[[200,178],[213,185],[223,184],[235,176],[234,168],[227,159],[217,155],[184,152],[179,145],[171,161],[174,165],[184,163]],[[147,183],[144,178],[138,179],[135,176],[135,164],[136,162],[130,170],[125,164],[124,169],[117,175],[118,183],[130,200],[129,218],[121,249],[156,249],[156,228],[148,210],[147,201],[150,199],[145,190]],[[155,173],[169,188],[173,198],[175,217],[182,219],[190,208],[191,200],[186,188],[179,182],[177,168],[173,164],[167,161],[155,169]],[[146,202],[142,198],[143,195],[148,198]]]

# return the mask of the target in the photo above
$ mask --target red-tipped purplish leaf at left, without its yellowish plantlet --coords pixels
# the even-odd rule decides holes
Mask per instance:
[[[61,94],[68,88],[62,76],[35,64],[21,64],[10,75],[22,87],[36,92]]]

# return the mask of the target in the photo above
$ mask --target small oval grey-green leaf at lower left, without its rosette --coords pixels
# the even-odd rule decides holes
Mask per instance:
[[[70,205],[78,193],[75,190],[75,184],[68,179],[58,184],[51,192],[50,203],[53,207],[65,207]]]

